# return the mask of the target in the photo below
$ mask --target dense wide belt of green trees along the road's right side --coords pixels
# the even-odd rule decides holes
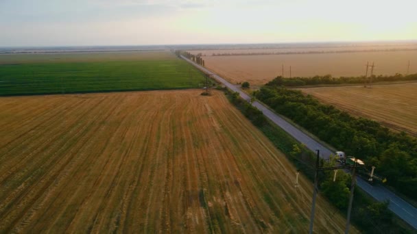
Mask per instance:
[[[269,83],[254,95],[324,142],[363,159],[368,165],[377,166],[378,173],[387,177],[388,184],[417,199],[416,138],[394,133],[373,120],[350,116],[298,90]]]

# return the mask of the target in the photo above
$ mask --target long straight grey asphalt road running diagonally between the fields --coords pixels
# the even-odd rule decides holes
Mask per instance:
[[[184,60],[189,62],[190,64],[193,64],[196,68],[202,70],[204,73],[211,75],[213,79],[216,79],[217,81],[221,82],[229,88],[230,90],[233,90],[233,92],[239,92],[242,99],[245,99],[246,101],[250,101],[250,96],[243,92],[239,87],[233,85],[232,83],[229,83],[226,81],[226,79],[223,79],[222,77],[219,77],[215,73],[211,72],[211,70],[208,70],[198,64],[195,64],[191,60],[187,59],[187,57],[181,56]],[[289,124],[289,122],[285,121],[283,118],[272,112],[270,109],[265,107],[265,105],[254,101],[252,103],[254,107],[257,107],[263,114],[272,120],[276,125],[284,129],[287,133],[292,135],[296,140],[304,144],[307,148],[309,148],[311,151],[320,151],[320,157],[324,159],[329,159],[329,156],[333,153],[329,148],[326,148],[319,142],[313,140],[309,135],[306,135],[293,125]],[[417,229],[417,209],[416,207],[413,207],[409,203],[407,203],[402,198],[396,196],[393,192],[390,192],[390,190],[387,190],[385,187],[382,187],[380,185],[370,185],[368,182],[366,182],[364,179],[361,179],[357,177],[357,185],[370,194],[375,200],[383,201],[383,200],[390,200],[389,209],[393,211],[398,217],[402,218],[405,222],[410,224],[414,227],[414,229]]]

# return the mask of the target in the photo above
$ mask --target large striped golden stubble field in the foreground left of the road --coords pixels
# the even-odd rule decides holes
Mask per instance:
[[[306,233],[311,183],[200,92],[1,98],[0,232]],[[318,200],[317,233],[344,222]]]

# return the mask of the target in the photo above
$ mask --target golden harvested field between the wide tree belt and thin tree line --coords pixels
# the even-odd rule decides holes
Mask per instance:
[[[302,92],[356,116],[372,118],[386,127],[417,135],[417,83],[304,88]]]

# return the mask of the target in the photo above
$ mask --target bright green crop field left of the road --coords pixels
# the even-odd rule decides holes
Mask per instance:
[[[0,55],[0,96],[198,88],[203,78],[169,51]]]

